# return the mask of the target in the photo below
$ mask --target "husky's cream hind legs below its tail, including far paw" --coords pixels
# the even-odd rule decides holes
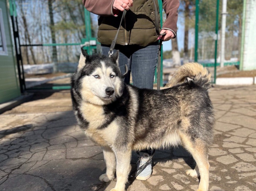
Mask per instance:
[[[180,134],[183,146],[192,154],[196,161],[196,168],[199,170],[200,183],[196,191],[208,191],[209,188],[209,169],[208,154],[205,144],[200,139],[191,140],[187,135]],[[198,176],[197,169],[190,171],[192,176]]]

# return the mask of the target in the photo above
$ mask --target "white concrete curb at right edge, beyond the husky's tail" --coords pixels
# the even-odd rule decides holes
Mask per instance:
[[[256,77],[216,78],[216,85],[253,85],[256,84]]]

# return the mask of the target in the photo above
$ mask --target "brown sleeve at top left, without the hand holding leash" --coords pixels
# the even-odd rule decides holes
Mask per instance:
[[[117,16],[113,13],[114,0],[83,0],[85,8],[100,16]]]

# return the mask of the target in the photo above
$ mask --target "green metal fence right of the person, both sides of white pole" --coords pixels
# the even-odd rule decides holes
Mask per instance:
[[[216,82],[216,72],[220,66],[220,8],[220,0],[196,0],[195,3],[194,60],[209,70],[212,83]],[[239,66],[242,25],[240,2],[228,2],[227,11],[224,66]]]

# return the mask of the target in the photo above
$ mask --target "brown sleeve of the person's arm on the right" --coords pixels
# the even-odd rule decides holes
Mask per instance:
[[[166,13],[166,21],[162,29],[167,29],[177,34],[178,8],[180,6],[179,0],[163,0],[163,7]],[[174,37],[174,38],[175,38]]]

